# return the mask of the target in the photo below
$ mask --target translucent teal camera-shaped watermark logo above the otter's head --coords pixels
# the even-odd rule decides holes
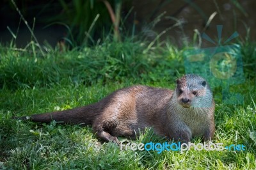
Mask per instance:
[[[214,47],[184,51],[185,72],[204,77],[212,88],[221,86],[223,103],[241,104],[243,95],[231,93],[229,90],[231,85],[244,82],[241,47],[237,44],[221,45],[222,28],[221,25],[217,26],[218,42],[214,42],[205,33],[202,35],[202,38],[214,44]],[[224,44],[237,36],[238,33],[234,32]]]

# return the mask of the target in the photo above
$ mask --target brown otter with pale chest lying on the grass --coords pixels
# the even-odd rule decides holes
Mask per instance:
[[[119,144],[146,127],[170,140],[188,143],[193,137],[214,136],[214,99],[209,84],[198,75],[177,79],[175,90],[131,86],[119,89],[95,104],[65,111],[23,116],[22,120],[92,125],[100,139]]]

